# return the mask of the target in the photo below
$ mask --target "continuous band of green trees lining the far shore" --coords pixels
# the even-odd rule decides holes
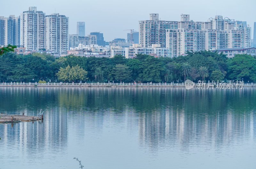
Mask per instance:
[[[0,81],[63,82],[181,82],[185,80],[256,81],[256,58],[237,54],[228,58],[211,51],[187,52],[177,58],[156,58],[137,54],[134,59],[68,55],[54,58],[49,54],[0,55]]]

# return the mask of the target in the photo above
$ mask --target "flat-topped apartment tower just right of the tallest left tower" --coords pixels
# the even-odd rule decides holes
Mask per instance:
[[[68,17],[53,13],[45,17],[46,50],[64,54],[69,49]]]

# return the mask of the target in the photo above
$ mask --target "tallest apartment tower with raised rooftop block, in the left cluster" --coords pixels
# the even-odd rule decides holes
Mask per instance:
[[[20,14],[20,45],[26,50],[45,48],[45,13],[36,7]]]

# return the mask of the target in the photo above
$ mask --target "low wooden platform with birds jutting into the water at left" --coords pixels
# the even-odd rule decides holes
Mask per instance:
[[[41,120],[42,117],[38,116],[25,116],[25,115],[8,115],[0,114],[0,123],[11,123],[13,117],[13,122],[23,122],[23,121],[36,121]]]

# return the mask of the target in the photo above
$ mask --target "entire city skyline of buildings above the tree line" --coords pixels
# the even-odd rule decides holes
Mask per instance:
[[[100,32],[85,36],[85,22],[77,22],[76,26],[76,34],[69,34],[68,17],[59,13],[45,15],[36,7],[29,7],[19,17],[0,17],[0,45],[16,45],[20,54],[46,51],[55,56],[114,57],[121,54],[126,58],[139,53],[177,57],[188,51],[233,51],[228,50],[230,48],[238,49],[238,53],[240,49],[256,47],[256,40],[253,41],[256,22],[251,39],[251,27],[246,21],[220,15],[205,22],[190,20],[188,14],[181,14],[180,21],[163,21],[159,20],[159,14],[151,13],[149,20],[139,21],[138,32],[128,29],[127,39],[115,38],[110,42],[106,42]]]

